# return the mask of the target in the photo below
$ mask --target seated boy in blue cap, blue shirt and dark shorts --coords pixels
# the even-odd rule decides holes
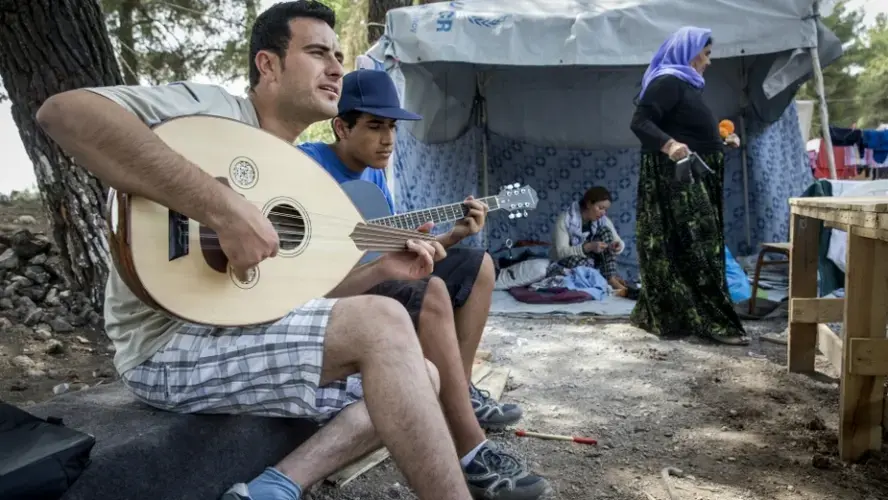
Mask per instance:
[[[339,114],[332,120],[333,144],[305,143],[299,148],[337,181],[361,179],[376,184],[394,211],[384,169],[394,151],[398,120],[420,120],[401,108],[394,82],[383,71],[345,75]],[[529,475],[512,456],[497,450],[482,428],[501,429],[520,420],[521,409],[499,404],[471,384],[471,370],[490,310],[493,261],[481,249],[453,248],[484,226],[487,207],[472,197],[467,216],[438,237],[447,257],[422,280],[387,281],[368,294],[401,302],[414,321],[423,354],[438,369],[440,398],[466,472],[469,489],[479,498],[538,498],[544,479]],[[430,224],[420,229],[428,230]],[[468,397],[467,397],[468,396]],[[366,419],[369,426],[369,418]],[[484,496],[493,494],[493,496]]]

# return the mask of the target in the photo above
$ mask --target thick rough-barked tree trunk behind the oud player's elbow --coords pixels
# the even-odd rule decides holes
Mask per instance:
[[[0,0],[0,78],[70,285],[101,313],[109,265],[107,191],[35,119],[53,94],[123,83],[97,0]]]

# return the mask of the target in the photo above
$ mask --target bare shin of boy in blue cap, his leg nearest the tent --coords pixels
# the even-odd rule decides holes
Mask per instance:
[[[466,303],[462,307],[453,311],[466,380],[472,380],[472,367],[475,363],[475,355],[478,353],[478,346],[481,344],[481,335],[484,334],[484,327],[487,325],[487,317],[490,314],[490,301],[495,282],[493,259],[485,253],[469,298],[466,299]]]

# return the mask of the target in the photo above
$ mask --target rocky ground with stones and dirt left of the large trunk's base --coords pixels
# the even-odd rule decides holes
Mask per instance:
[[[72,292],[36,199],[0,198],[0,399],[40,401],[113,378],[101,318]]]

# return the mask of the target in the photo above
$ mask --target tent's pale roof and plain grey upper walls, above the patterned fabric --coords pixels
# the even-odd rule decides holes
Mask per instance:
[[[641,75],[675,29],[713,32],[706,95],[717,115],[748,105],[773,121],[810,77],[804,49],[819,46],[823,65],[841,55],[813,9],[813,0],[439,2],[390,11],[370,55],[397,63],[405,105],[425,117],[406,126],[424,142],[459,136],[483,97],[490,130],[508,137],[631,146]]]

